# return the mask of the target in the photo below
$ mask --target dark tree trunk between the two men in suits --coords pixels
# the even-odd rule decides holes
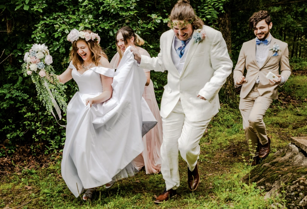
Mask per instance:
[[[218,27],[220,32],[225,39],[228,53],[231,57],[231,21],[230,21],[230,9],[229,6],[224,5],[225,13],[220,13],[219,18],[217,20]],[[231,72],[230,76],[226,79],[226,82],[223,86],[224,93],[227,103],[236,105],[238,103],[238,99],[235,92],[235,85],[233,82],[233,72]]]

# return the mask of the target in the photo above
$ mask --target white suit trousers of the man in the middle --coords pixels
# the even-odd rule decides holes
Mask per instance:
[[[199,141],[210,121],[211,119],[200,122],[189,121],[180,99],[167,118],[162,118],[161,173],[166,190],[177,189],[180,185],[178,150],[188,163],[188,168],[194,170],[200,154]]]

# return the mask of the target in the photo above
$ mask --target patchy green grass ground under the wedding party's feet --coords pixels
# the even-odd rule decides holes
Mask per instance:
[[[274,153],[290,142],[291,136],[307,133],[307,77],[291,77],[281,88],[264,121],[272,139]],[[248,161],[242,118],[238,109],[222,105],[200,140],[200,185],[195,192],[187,186],[187,165],[179,160],[181,186],[178,196],[161,205],[153,204],[155,195],[164,189],[161,174],[136,176],[118,181],[109,189],[97,188],[91,202],[75,198],[60,175],[60,163],[47,168],[23,170],[0,180],[0,208],[25,204],[20,208],[269,208],[283,203],[282,195],[264,199],[265,192],[255,183],[245,188],[240,181],[248,173],[242,155]],[[271,156],[272,154],[270,154]],[[289,182],[284,182],[286,185]],[[285,194],[286,195],[286,194]]]

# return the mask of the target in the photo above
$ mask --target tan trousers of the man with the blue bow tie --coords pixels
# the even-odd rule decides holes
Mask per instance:
[[[240,99],[239,109],[243,118],[245,137],[247,143],[251,140],[252,147],[249,147],[249,149],[252,149],[251,153],[256,150],[255,156],[258,156],[259,143],[264,145],[268,142],[263,116],[272,102],[273,99],[260,96],[258,84],[255,84],[244,99]]]

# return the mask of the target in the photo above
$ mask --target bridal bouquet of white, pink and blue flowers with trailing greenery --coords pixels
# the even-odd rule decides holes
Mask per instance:
[[[43,102],[46,109],[55,117],[52,106],[55,107],[61,119],[60,108],[66,112],[67,98],[65,95],[66,86],[57,80],[51,66],[52,56],[49,54],[45,44],[33,44],[29,52],[25,53],[25,63],[22,64],[22,71],[25,76],[30,76],[36,86],[38,98]]]

